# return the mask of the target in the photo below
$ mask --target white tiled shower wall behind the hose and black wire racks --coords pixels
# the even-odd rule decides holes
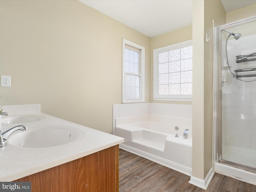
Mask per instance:
[[[225,39],[225,38],[222,38]],[[256,52],[256,35],[228,40],[228,60],[231,71],[256,68],[256,61],[236,63],[236,56]],[[222,42],[222,76],[226,83],[222,87],[222,148],[225,145],[256,150],[256,81],[243,82],[233,78]],[[242,80],[255,80],[241,77]]]

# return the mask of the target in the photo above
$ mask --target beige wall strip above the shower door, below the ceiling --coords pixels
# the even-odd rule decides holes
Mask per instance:
[[[252,16],[256,16],[256,4],[252,4],[244,8],[227,12],[226,23],[231,23],[231,22],[238,21],[244,18],[249,18]]]

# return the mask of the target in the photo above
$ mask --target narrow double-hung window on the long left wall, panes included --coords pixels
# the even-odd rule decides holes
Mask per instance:
[[[145,48],[123,39],[122,102],[144,102]]]

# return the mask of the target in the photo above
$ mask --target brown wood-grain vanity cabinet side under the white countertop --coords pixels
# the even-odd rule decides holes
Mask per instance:
[[[118,192],[118,145],[15,180],[32,192]]]

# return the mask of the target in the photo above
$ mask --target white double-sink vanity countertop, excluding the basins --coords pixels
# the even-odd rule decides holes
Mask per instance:
[[[4,111],[9,112],[8,110]],[[124,138],[62,120],[40,111],[16,112],[15,115],[17,114],[33,114],[46,117],[37,122],[24,123],[28,130],[39,126],[68,126],[80,130],[84,135],[74,142],[47,148],[18,147],[8,143],[7,140],[6,146],[0,148],[0,182],[13,181],[124,142]],[[10,112],[9,116],[12,116]],[[1,130],[4,132],[16,125],[19,124],[2,123]],[[20,131],[18,130],[12,135],[18,132]]]

